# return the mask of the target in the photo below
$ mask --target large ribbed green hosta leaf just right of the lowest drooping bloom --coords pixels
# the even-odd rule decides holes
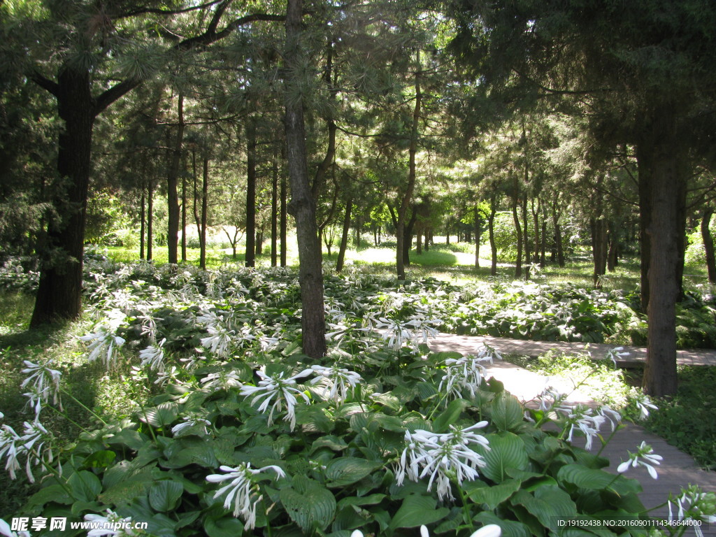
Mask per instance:
[[[279,498],[291,520],[306,533],[326,529],[336,512],[331,491],[303,475],[295,475],[291,488],[282,489]]]

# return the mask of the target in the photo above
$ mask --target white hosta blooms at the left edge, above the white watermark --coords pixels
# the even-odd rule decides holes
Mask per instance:
[[[0,427],[0,459],[3,457],[6,459],[5,470],[9,473],[10,479],[16,479],[16,470],[20,469],[19,458],[24,457],[25,473],[30,483],[34,483],[32,466],[52,463],[52,449],[47,446],[47,440],[51,435],[37,420],[37,416],[34,421],[24,422],[23,425],[23,435],[19,435],[9,425]]]

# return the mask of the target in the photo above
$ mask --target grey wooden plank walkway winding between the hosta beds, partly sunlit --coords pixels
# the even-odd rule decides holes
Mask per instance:
[[[584,350],[584,344],[581,343],[527,342],[516,339],[456,336],[453,334],[440,334],[440,336],[430,341],[430,348],[437,352],[457,351],[463,354],[475,354],[483,344],[490,345],[501,354],[521,354],[523,356],[538,356],[549,349],[557,349],[560,352],[568,353],[574,352],[574,354]],[[613,347],[612,345],[590,344],[589,351],[592,357],[596,359],[604,357],[606,351]],[[646,349],[625,348],[624,350],[633,352],[632,355],[624,360],[627,365],[629,362],[643,361],[646,357]],[[678,360],[681,364],[716,365],[716,352],[679,351]],[[569,396],[570,402],[594,403],[578,390],[573,390],[573,387],[569,385],[569,381],[544,377],[509,362],[496,360],[493,367],[488,368],[487,376],[488,378],[495,377],[495,379],[503,382],[506,390],[524,402],[533,400],[545,387],[551,386],[563,393],[571,392]],[[662,455],[664,458],[662,464],[657,467],[659,473],[657,480],[650,478],[644,468],[629,470],[628,476],[639,480],[642,488],[644,488],[641,498],[647,508],[656,508],[667,500],[669,493],[678,495],[681,488],[686,488],[690,483],[700,485],[702,490],[716,492],[716,472],[701,470],[690,455],[683,453],[674,448],[674,446],[667,444],[664,439],[632,423],[627,423],[626,427],[617,431],[606,448],[604,448],[602,455],[609,458],[610,461],[609,468],[606,468],[606,470],[616,472],[616,467],[619,463],[627,459],[627,451],[634,452],[637,450],[637,446],[642,440],[652,446],[654,453]],[[652,511],[651,514],[658,518],[666,518],[668,511],[664,505]],[[709,527],[705,523],[702,526],[702,531],[705,536],[716,537],[716,524],[712,524]],[[689,528],[685,533],[685,535],[694,534],[693,528]]]

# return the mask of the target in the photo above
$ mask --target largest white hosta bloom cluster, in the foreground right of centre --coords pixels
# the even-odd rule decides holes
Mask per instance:
[[[472,481],[478,477],[478,468],[485,465],[483,456],[473,450],[471,445],[481,445],[490,449],[487,438],[473,432],[488,425],[488,422],[478,422],[466,427],[450,425],[450,432],[438,434],[426,430],[405,432],[407,447],[400,455],[395,473],[396,482],[402,485],[405,477],[417,481],[427,476],[427,490],[435,483],[437,497],[451,500],[453,492],[450,489],[450,478],[455,478],[458,486],[463,481]]]

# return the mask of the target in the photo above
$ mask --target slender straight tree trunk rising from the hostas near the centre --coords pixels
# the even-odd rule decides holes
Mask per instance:
[[[299,284],[301,286],[301,338],[304,353],[314,359],[326,354],[326,321],[324,316],[321,244],[316,228],[316,206],[311,185],[306,151],[303,98],[298,80],[301,51],[301,0],[288,0],[286,7],[286,157],[291,179],[289,211],[296,218],[299,243]],[[298,93],[298,95],[296,95]]]

